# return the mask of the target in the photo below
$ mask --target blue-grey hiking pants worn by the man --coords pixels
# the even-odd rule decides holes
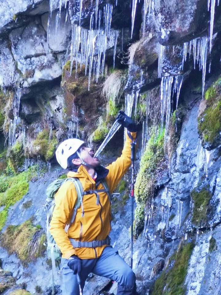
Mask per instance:
[[[61,259],[62,295],[79,295],[76,275],[73,275],[67,263],[68,259]],[[80,274],[82,290],[89,273],[116,281],[117,295],[136,294],[135,274],[111,246],[107,246],[99,258],[82,259]]]

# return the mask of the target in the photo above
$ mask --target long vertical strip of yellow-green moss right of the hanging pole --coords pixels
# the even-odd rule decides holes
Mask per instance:
[[[163,130],[158,136],[155,135],[156,129],[152,130],[152,135],[148,141],[147,147],[140,161],[140,170],[137,175],[134,192],[136,203],[135,209],[135,237],[138,237],[144,225],[144,210],[148,211],[151,200],[154,196],[154,182],[156,180],[156,171],[159,163],[164,156],[164,133]]]

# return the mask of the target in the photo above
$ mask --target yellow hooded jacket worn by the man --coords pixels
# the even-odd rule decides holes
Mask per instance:
[[[131,133],[133,139],[136,133]],[[126,142],[122,155],[106,168],[109,170],[105,180],[112,193],[122,176],[126,173],[131,164],[130,159],[130,138],[126,135]],[[95,181],[81,165],[77,172],[68,172],[68,177],[78,177],[83,191],[103,189],[99,183],[95,188]],[[76,241],[103,240],[111,230],[111,204],[106,192],[99,193],[99,205],[96,205],[96,195],[89,194],[83,196],[84,216],[82,217],[81,207],[77,209],[74,222],[68,232],[64,231],[66,224],[69,224],[72,217],[72,210],[77,199],[76,189],[72,182],[65,182],[55,195],[55,208],[50,222],[50,233],[61,250],[63,258],[69,258],[75,254],[81,259],[97,258],[101,255],[106,245],[95,248],[73,248],[69,238]]]

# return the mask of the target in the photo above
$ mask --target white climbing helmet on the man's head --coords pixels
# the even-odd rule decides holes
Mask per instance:
[[[77,138],[70,138],[64,140],[56,149],[55,155],[58,163],[62,168],[68,167],[68,157],[73,155],[82,144],[85,144],[83,140]]]

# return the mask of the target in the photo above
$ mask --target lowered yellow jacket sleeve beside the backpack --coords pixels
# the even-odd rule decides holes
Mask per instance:
[[[68,234],[64,231],[70,222],[72,210],[77,199],[76,188],[73,183],[66,182],[55,195],[55,207],[50,222],[50,233],[58,245],[63,258],[69,258],[76,251],[72,247]]]

